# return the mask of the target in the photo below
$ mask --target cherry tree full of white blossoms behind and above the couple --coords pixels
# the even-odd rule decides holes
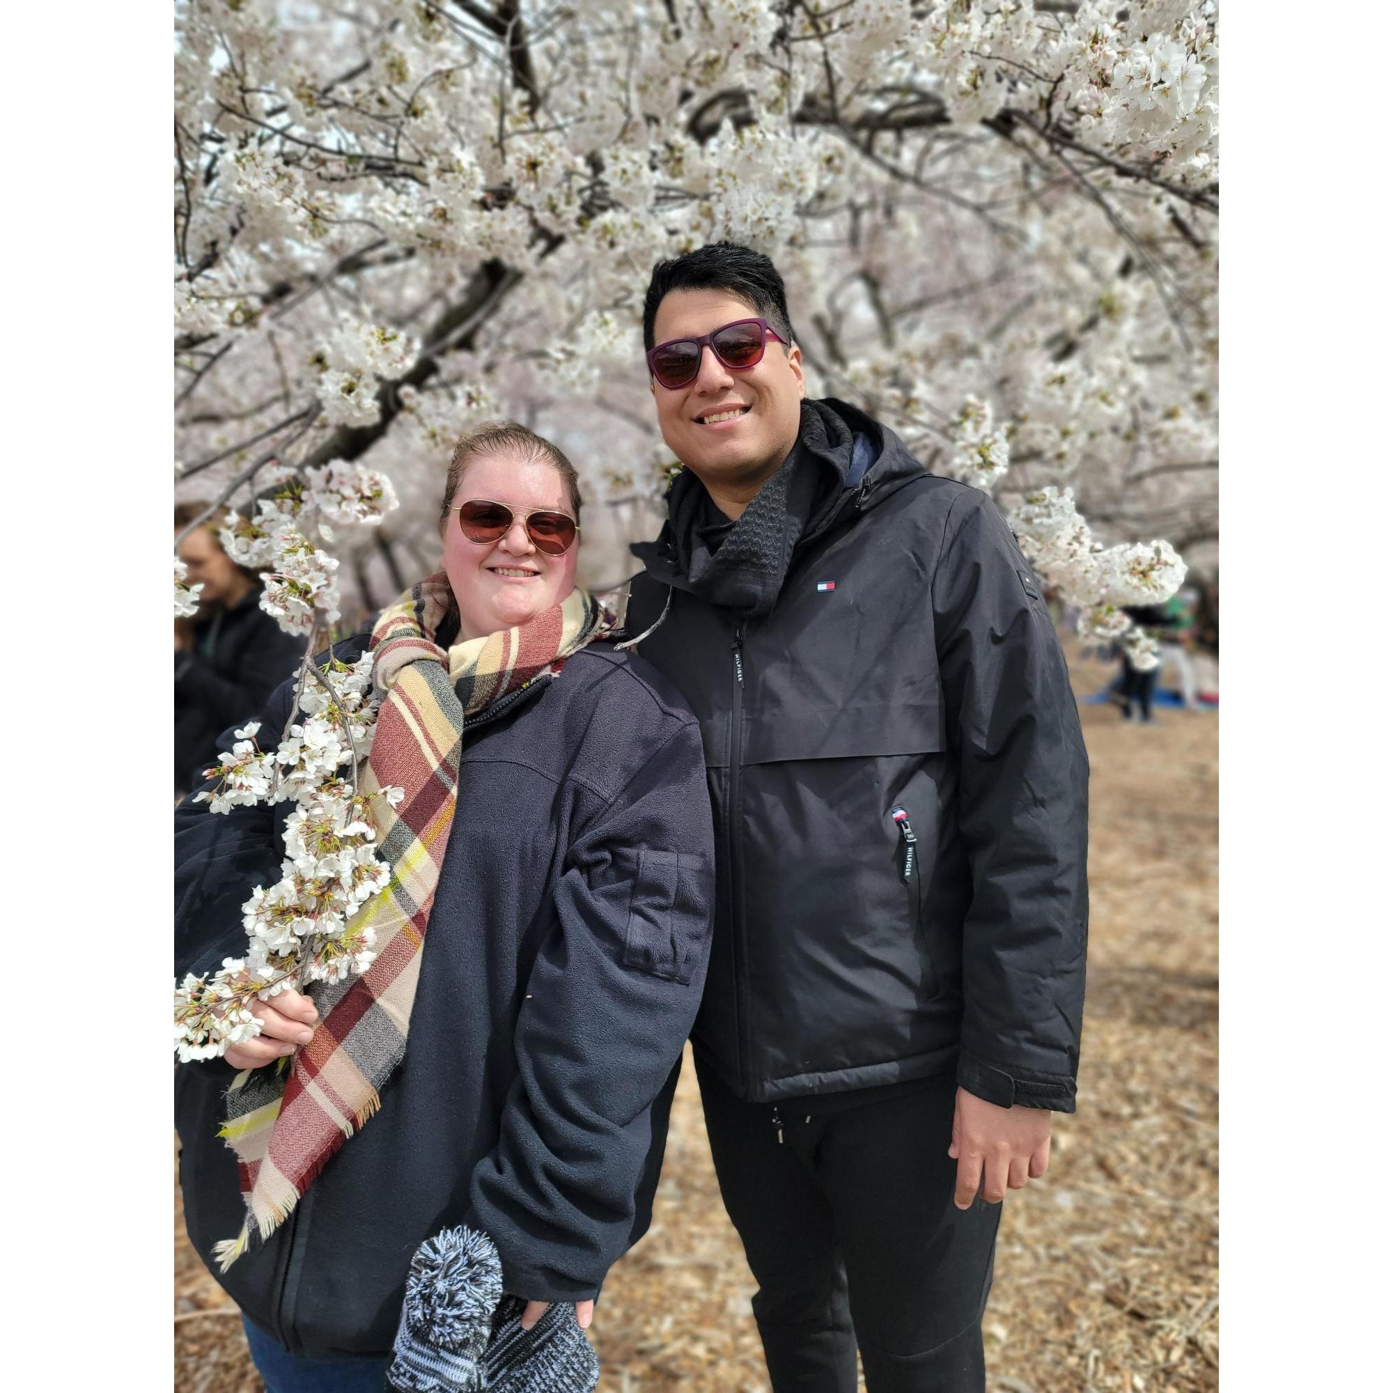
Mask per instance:
[[[182,0],[178,489],[313,645],[435,568],[454,440],[513,417],[574,458],[588,577],[621,581],[674,464],[648,276],[730,238],[783,272],[809,391],[992,492],[1081,630],[1151,664],[1121,606],[1217,529],[1216,25],[1195,0]],[[371,710],[315,671],[344,727],[322,780],[248,737],[220,797],[322,820],[327,781],[357,829]]]

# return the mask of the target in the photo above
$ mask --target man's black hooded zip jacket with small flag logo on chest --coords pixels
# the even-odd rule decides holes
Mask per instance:
[[[691,593],[667,529],[635,547],[627,625],[670,600],[639,651],[701,723],[716,816],[694,1043],[747,1099],[956,1063],[993,1103],[1071,1112],[1088,761],[1059,641],[990,499],[826,405],[861,437],[853,486],[766,617]]]

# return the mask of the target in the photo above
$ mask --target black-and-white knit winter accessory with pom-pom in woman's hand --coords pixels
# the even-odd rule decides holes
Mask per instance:
[[[387,1385],[398,1393],[593,1393],[600,1364],[568,1301],[518,1325],[488,1234],[446,1229],[411,1259]]]

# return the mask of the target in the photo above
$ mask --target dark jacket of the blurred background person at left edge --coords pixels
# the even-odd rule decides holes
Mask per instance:
[[[174,653],[174,791],[203,781],[217,734],[252,720],[305,656],[260,607],[255,586],[233,609],[210,606],[194,623],[192,649]]]

